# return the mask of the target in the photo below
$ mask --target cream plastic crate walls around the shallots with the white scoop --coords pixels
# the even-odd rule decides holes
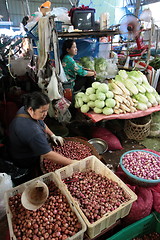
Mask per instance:
[[[11,210],[10,210],[10,207],[9,207],[9,204],[8,204],[8,199],[9,199],[9,197],[12,197],[12,196],[14,196],[18,193],[22,193],[26,186],[28,186],[29,184],[31,184],[33,181],[36,181],[36,180],[40,180],[40,181],[42,181],[46,184],[49,183],[50,181],[53,181],[55,183],[55,185],[61,190],[61,193],[66,196],[66,198],[68,200],[68,203],[70,205],[70,208],[76,214],[76,216],[77,216],[77,218],[78,218],[78,220],[79,220],[79,222],[81,223],[81,226],[82,226],[82,229],[79,232],[77,232],[74,236],[72,236],[70,238],[67,238],[67,239],[68,240],[83,240],[84,232],[86,231],[86,225],[85,225],[82,217],[78,213],[76,207],[71,202],[71,199],[70,199],[69,195],[66,193],[65,189],[63,189],[63,187],[61,186],[61,184],[57,180],[57,177],[54,173],[47,173],[45,175],[42,175],[38,178],[35,178],[31,181],[28,181],[24,184],[21,184],[21,185],[15,187],[15,188],[5,192],[4,198],[5,198],[5,204],[6,204],[6,213],[7,213],[7,220],[8,220],[8,225],[9,225],[10,239],[11,240],[16,240],[17,238],[16,238],[16,236],[14,235],[14,232],[13,232],[12,213],[11,213]]]

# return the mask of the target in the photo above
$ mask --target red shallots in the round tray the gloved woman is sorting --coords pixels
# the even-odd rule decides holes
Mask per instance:
[[[92,155],[92,150],[89,146],[74,141],[64,141],[63,146],[53,146],[53,151],[73,160],[81,160]],[[46,172],[54,172],[63,167],[63,165],[53,163],[49,159],[44,159],[43,165]]]

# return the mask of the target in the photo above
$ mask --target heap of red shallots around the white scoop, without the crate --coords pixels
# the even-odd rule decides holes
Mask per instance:
[[[53,182],[48,188],[48,199],[36,211],[22,206],[21,194],[9,198],[13,232],[17,240],[65,240],[82,229],[66,197]]]

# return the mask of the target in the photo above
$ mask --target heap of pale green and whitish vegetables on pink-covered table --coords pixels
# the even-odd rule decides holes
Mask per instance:
[[[134,113],[160,104],[160,95],[140,71],[120,70],[108,84],[94,82],[75,95],[75,108],[105,115]]]

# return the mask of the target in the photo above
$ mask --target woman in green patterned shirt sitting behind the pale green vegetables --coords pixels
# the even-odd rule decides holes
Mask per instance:
[[[94,70],[84,69],[76,63],[74,60],[75,55],[77,55],[76,42],[72,39],[64,41],[61,61],[68,82],[64,83],[63,87],[71,88],[73,92],[79,91],[82,88],[85,90],[86,88],[91,87],[94,82],[94,77],[96,76]]]

